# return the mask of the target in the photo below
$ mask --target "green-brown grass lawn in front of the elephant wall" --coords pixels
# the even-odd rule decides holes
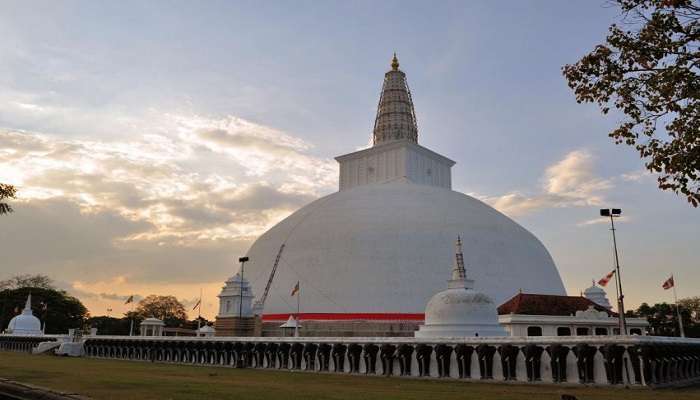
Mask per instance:
[[[0,377],[95,399],[700,399],[700,387],[622,389],[400,379],[0,352]]]

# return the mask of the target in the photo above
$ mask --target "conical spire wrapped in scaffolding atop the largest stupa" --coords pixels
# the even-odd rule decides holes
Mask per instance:
[[[418,125],[406,74],[399,69],[399,60],[391,60],[391,70],[384,74],[374,120],[374,145],[407,139],[418,143]]]

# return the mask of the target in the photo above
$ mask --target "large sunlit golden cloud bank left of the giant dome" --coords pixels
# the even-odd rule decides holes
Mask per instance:
[[[310,148],[236,117],[163,115],[113,141],[0,129],[0,182],[19,195],[2,274],[45,273],[115,310],[150,289],[214,296],[255,237],[335,189]]]

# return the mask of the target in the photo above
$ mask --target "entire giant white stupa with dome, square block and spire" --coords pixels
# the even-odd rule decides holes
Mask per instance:
[[[290,291],[299,281],[302,321],[422,321],[425,304],[444,288],[458,234],[475,289],[496,304],[519,290],[565,294],[542,243],[487,204],[453,191],[454,161],[418,144],[413,101],[396,57],[384,77],[373,142],[336,158],[338,192],[282,220],[248,251],[246,272],[260,294],[285,245],[264,320],[296,315]]]

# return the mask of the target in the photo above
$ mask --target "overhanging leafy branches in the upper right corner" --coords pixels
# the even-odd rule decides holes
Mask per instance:
[[[634,146],[658,185],[700,204],[700,4],[613,0],[623,24],[562,68],[579,103],[625,119],[609,136]]]

